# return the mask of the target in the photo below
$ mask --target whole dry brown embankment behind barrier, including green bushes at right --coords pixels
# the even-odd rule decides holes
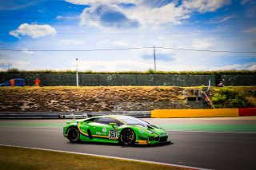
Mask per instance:
[[[186,102],[184,89],[202,87],[1,87],[0,112],[99,112],[207,108]],[[256,107],[256,87],[213,87],[218,108]]]

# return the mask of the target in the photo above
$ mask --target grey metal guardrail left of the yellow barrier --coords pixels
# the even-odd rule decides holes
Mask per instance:
[[[119,114],[138,118],[149,118],[150,111],[123,111],[123,112],[2,112],[0,119],[59,119],[67,118],[65,116],[82,116],[86,113],[88,117],[96,117],[101,115]],[[68,117],[72,118],[72,117]]]

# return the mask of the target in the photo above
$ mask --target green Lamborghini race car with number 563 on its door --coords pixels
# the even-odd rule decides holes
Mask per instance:
[[[90,141],[122,145],[170,142],[164,129],[138,118],[122,115],[68,121],[63,127],[63,134],[70,142]]]

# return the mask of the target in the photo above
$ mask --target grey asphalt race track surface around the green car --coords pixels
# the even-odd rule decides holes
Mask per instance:
[[[44,122],[49,121],[51,120]],[[149,119],[149,121],[158,120]],[[166,121],[165,124],[180,122],[184,126],[202,124],[202,122],[216,125],[238,125],[239,122],[242,122],[243,125],[256,125],[255,119],[242,121],[233,119],[215,119],[213,121],[210,119],[165,119],[163,121]],[[150,160],[196,168],[256,169],[255,132],[169,131],[172,144],[122,147],[116,144],[71,144],[62,136],[62,128],[3,126],[2,122],[0,121],[0,144]]]

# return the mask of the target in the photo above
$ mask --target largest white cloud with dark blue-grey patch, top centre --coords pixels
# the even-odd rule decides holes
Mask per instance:
[[[113,15],[112,19],[109,19],[110,15]],[[190,18],[190,14],[181,6],[177,7],[174,2],[157,8],[147,6],[145,3],[132,8],[98,3],[83,10],[80,18],[81,25],[129,29],[141,25],[158,28],[159,24],[180,24],[182,19]]]

